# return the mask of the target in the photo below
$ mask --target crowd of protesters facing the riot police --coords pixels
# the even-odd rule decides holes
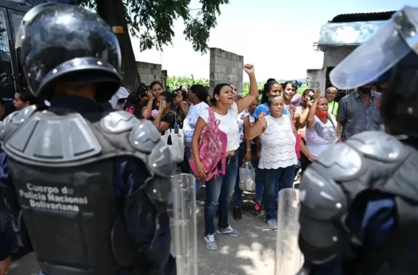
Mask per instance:
[[[162,135],[182,129],[184,158],[176,171],[196,176],[197,200],[205,208],[204,241],[211,250],[217,249],[215,233],[239,235],[228,223],[228,212],[234,198],[233,218],[242,219],[239,167],[244,162],[256,168],[252,214],[265,213],[269,228],[276,229],[279,191],[292,188],[316,156],[355,134],[383,129],[380,93],[372,87],[360,87],[338,104],[334,87],[325,91],[325,97],[320,89],[310,88],[299,95],[298,83],[269,79],[259,91],[254,67],[245,65],[244,70],[250,79],[246,96],[232,82],[218,84],[209,95],[209,87],[200,84],[170,91],[155,81],[135,92],[121,87],[109,102],[111,108],[151,120]],[[211,135],[214,132],[218,134]],[[206,187],[205,197],[201,186]],[[218,218],[216,230],[214,217]]]

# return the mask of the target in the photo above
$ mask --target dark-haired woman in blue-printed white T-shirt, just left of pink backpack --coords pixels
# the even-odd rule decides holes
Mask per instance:
[[[192,85],[190,87],[190,92],[188,94],[188,101],[192,103],[189,107],[189,112],[183,121],[183,131],[184,131],[184,154],[187,159],[187,162],[190,159],[192,154],[192,137],[194,129],[196,127],[197,120],[200,114],[209,108],[209,105],[206,103],[208,97],[208,90],[203,85]],[[193,173],[191,171],[191,173]],[[200,181],[196,178],[196,199],[199,200],[200,192]]]

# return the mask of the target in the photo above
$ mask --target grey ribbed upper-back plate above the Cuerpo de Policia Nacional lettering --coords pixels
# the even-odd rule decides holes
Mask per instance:
[[[23,163],[67,166],[99,154],[102,147],[79,113],[55,116],[44,110],[30,116],[3,149]]]

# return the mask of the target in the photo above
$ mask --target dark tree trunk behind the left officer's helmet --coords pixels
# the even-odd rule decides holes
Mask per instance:
[[[129,88],[132,92],[136,91],[141,83],[141,78],[136,66],[135,55],[132,49],[131,38],[125,20],[122,0],[96,0],[97,13],[111,27],[123,27],[123,34],[116,34],[119,40],[120,51],[122,53],[122,86]]]

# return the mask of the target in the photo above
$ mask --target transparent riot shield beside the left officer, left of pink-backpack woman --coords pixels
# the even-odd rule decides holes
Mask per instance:
[[[177,274],[197,275],[196,180],[191,174],[171,178]]]

